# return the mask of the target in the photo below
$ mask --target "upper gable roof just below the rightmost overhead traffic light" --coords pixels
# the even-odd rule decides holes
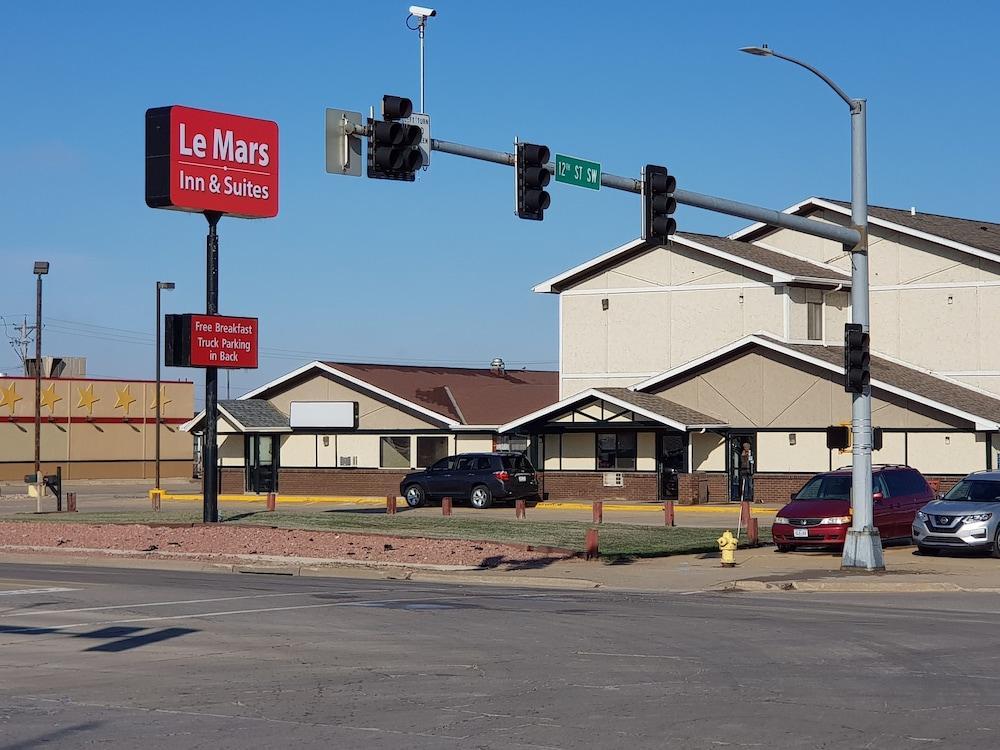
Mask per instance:
[[[776,283],[813,283],[822,285],[851,283],[850,274],[834,266],[817,263],[788,253],[769,250],[750,242],[734,240],[696,232],[678,232],[671,238],[671,244],[697,250],[715,258],[729,261],[754,271],[766,274]],[[532,291],[540,294],[555,294],[566,287],[583,281],[598,273],[610,270],[627,260],[631,260],[649,250],[660,247],[654,242],[633,240],[621,247],[599,255],[579,266],[553,276],[536,285]],[[664,247],[669,247],[665,245]]]

